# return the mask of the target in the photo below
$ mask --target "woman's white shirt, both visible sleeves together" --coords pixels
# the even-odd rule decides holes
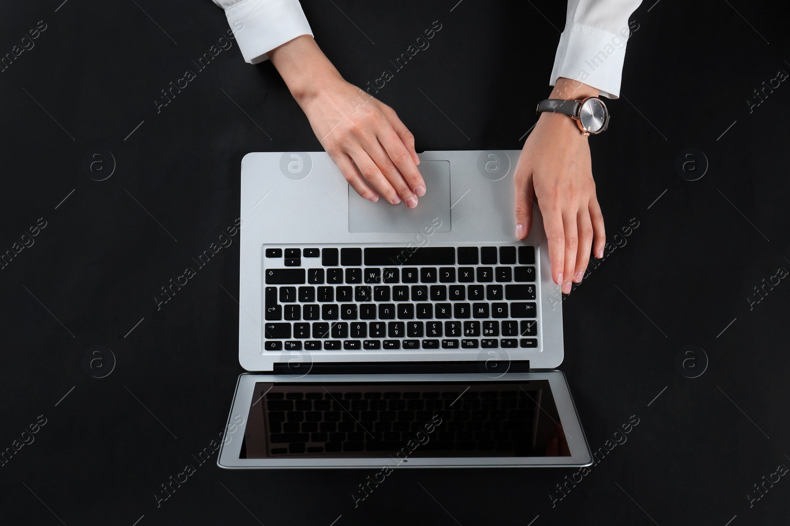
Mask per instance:
[[[299,0],[214,0],[225,9],[244,60],[257,64],[266,54],[299,35],[313,35]],[[620,95],[628,17],[641,0],[568,0],[549,85],[559,77],[580,80],[610,99]],[[536,20],[536,23],[542,23]]]

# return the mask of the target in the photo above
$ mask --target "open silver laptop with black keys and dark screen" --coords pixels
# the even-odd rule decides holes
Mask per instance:
[[[414,209],[325,152],[245,155],[221,468],[592,464],[540,212],[513,236],[519,153],[419,154]]]

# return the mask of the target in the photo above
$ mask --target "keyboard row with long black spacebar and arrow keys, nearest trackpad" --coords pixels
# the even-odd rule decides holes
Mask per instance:
[[[299,267],[301,258],[317,258],[318,248],[285,248],[285,266]],[[345,247],[322,248],[324,267],[361,267],[387,265],[534,265],[535,247]],[[266,248],[267,258],[283,257],[282,248]],[[364,258],[363,258],[364,256]]]

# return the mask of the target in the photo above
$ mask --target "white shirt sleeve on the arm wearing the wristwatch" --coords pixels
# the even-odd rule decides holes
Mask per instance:
[[[549,85],[561,76],[620,96],[623,61],[630,32],[628,17],[641,0],[568,0],[565,30],[559,39]]]

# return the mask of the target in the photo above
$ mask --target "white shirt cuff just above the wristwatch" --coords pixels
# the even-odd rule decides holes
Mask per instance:
[[[627,27],[618,35],[587,25],[567,25],[559,39],[549,85],[554,86],[563,76],[600,90],[604,97],[617,99],[628,32]]]

